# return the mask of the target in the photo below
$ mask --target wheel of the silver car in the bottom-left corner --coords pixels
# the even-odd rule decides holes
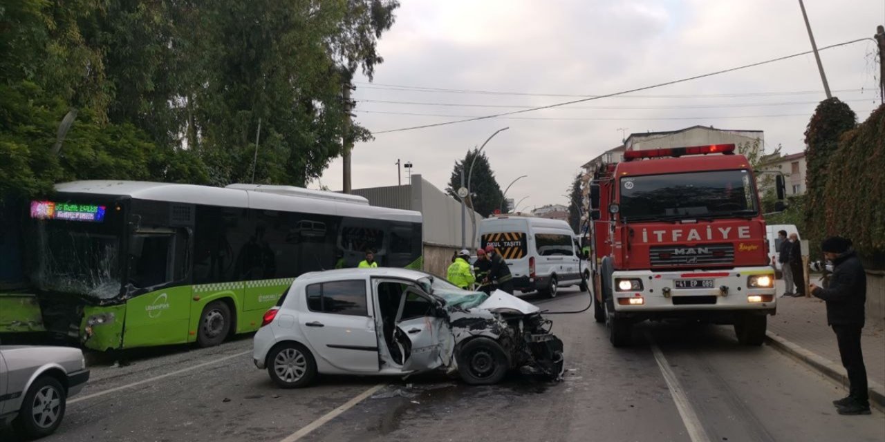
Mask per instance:
[[[43,438],[58,429],[65,417],[67,394],[58,379],[51,376],[37,377],[21,401],[19,415],[13,425],[26,438]],[[34,409],[42,407],[35,415]]]

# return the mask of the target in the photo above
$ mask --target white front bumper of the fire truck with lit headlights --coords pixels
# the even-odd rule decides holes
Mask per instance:
[[[722,271],[615,271],[612,307],[623,316],[668,312],[758,312],[777,307],[770,266]],[[690,316],[690,315],[689,315]]]

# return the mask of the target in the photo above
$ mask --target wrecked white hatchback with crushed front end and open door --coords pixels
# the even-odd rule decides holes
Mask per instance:
[[[558,379],[563,344],[550,326],[515,296],[467,292],[420,271],[322,271],[296,278],[267,311],[253,359],[285,388],[318,373],[442,370],[489,385],[519,369]]]

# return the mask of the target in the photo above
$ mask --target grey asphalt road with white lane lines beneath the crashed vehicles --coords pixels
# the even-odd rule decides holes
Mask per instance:
[[[576,290],[526,299],[550,311],[589,301]],[[440,376],[322,377],[281,390],[252,365],[245,337],[93,366],[61,428],[43,440],[885,440],[885,415],[837,415],[830,401],[842,388],[772,348],[738,346],[730,327],[646,323],[635,346],[615,349],[592,309],[550,318],[566,344],[561,383],[518,374],[483,387]],[[0,440],[17,439],[0,430]]]

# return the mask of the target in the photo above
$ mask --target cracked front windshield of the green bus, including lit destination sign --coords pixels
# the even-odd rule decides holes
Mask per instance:
[[[119,294],[119,212],[105,216],[104,207],[32,203],[29,261],[37,288],[99,299]]]

